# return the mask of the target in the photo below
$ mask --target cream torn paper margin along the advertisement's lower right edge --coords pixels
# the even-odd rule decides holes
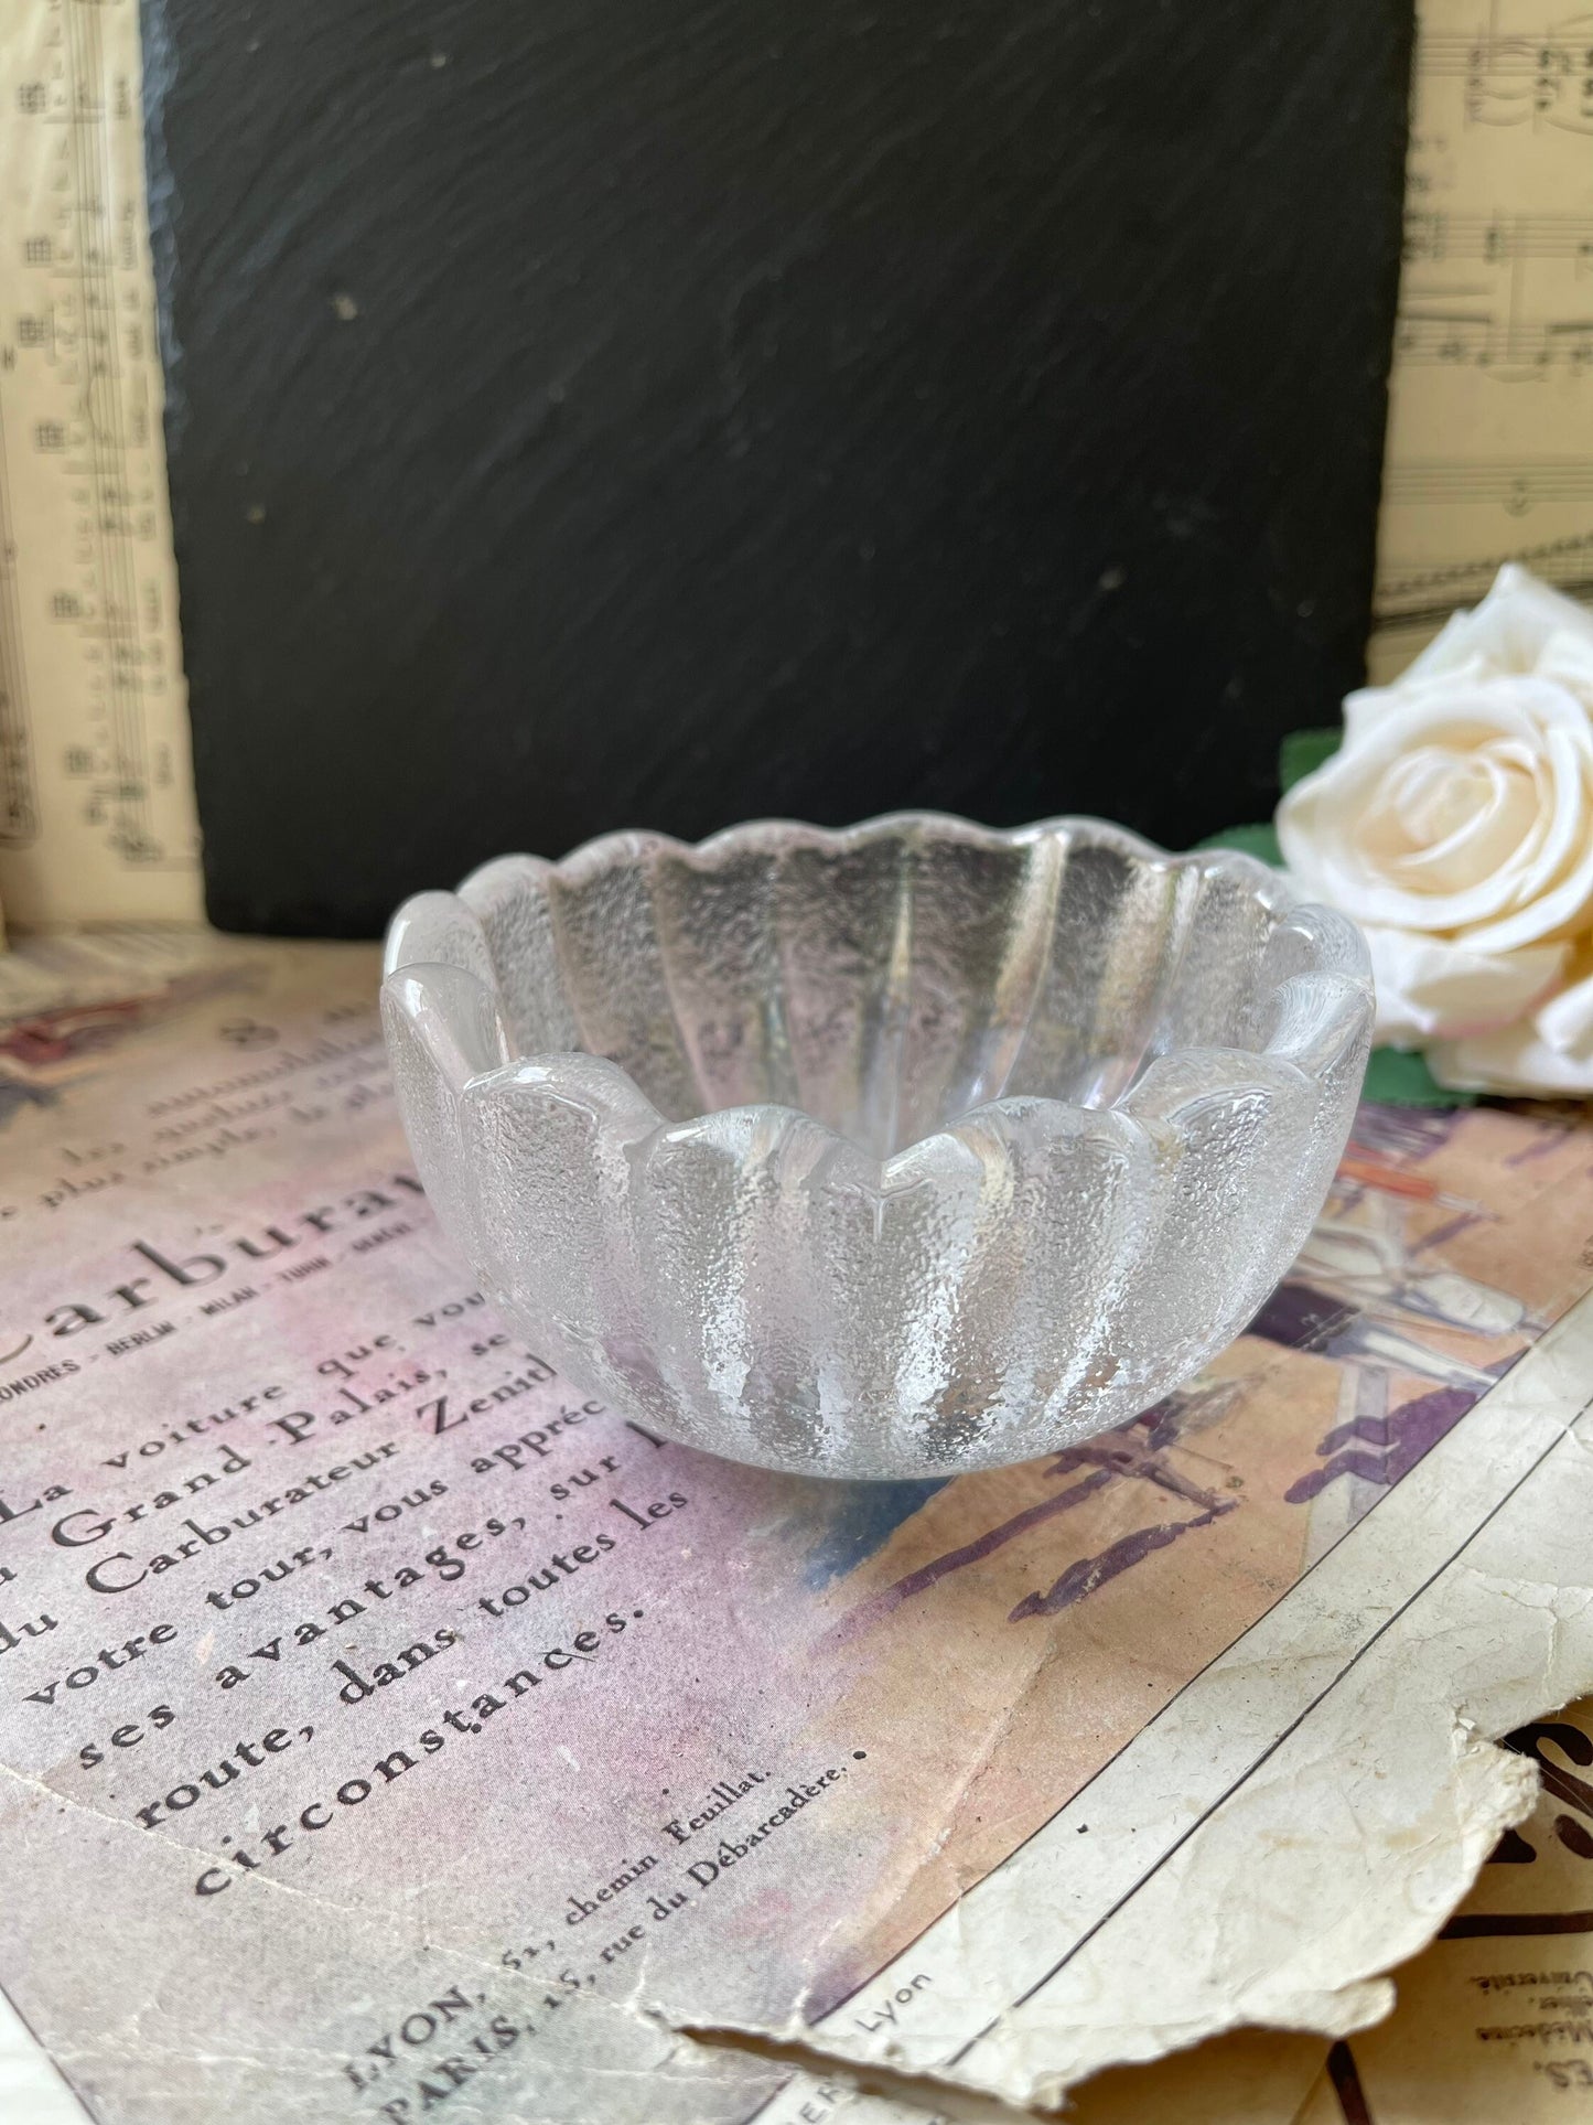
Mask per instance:
[[[886,2070],[1054,2108],[1223,2029],[1387,2014],[1385,1972],[1531,1810],[1534,1766],[1491,1736],[1593,1687],[1589,1386],[1593,1296],[869,1985],[743,2034],[875,2089]],[[816,2087],[758,2125],[801,2125]]]

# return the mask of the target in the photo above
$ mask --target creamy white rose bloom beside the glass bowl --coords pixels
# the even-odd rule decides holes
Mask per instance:
[[[1504,567],[1279,805],[1372,952],[1378,1037],[1455,1088],[1593,1092],[1593,614]]]

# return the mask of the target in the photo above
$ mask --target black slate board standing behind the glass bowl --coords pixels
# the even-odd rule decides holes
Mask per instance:
[[[1181,846],[1357,682],[1402,0],[144,0],[210,912]]]

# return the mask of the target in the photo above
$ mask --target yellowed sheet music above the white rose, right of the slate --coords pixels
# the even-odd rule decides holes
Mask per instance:
[[[1593,595],[1593,15],[1421,0],[1372,678],[1504,561]]]

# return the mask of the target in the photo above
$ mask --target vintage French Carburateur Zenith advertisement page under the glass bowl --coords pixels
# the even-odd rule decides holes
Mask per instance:
[[[1531,1806],[1487,1736],[1593,1677],[1580,1120],[1368,1107],[1209,1377],[830,1485],[493,1320],[365,948],[30,992],[0,1109],[0,1980],[106,2125],[807,2125],[1344,2034]]]

